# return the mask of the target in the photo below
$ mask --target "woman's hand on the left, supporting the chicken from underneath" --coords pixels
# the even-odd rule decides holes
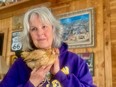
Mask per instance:
[[[42,66],[39,69],[34,69],[31,72],[31,76],[29,78],[30,82],[36,87],[45,79],[45,75],[50,71],[52,65]]]

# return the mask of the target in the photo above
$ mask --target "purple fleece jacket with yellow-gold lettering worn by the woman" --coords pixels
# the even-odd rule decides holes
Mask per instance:
[[[96,87],[86,62],[77,54],[68,51],[65,43],[62,43],[59,50],[61,70],[52,76],[50,84],[46,82],[43,87]],[[17,58],[0,82],[0,87],[34,87],[29,81],[31,71],[23,58]]]

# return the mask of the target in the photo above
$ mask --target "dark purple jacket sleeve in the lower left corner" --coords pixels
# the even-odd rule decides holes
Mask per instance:
[[[16,60],[14,64],[10,67],[7,74],[0,82],[0,87],[34,87],[30,81],[26,83],[21,83],[19,79],[19,69],[18,69],[18,61]]]

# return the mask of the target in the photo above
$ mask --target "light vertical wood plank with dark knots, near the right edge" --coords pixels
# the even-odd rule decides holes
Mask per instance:
[[[106,87],[112,87],[112,58],[110,33],[110,0],[104,0],[104,46]]]

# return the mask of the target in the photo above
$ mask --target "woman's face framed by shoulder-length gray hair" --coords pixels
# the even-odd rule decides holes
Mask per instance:
[[[29,25],[29,33],[35,47],[44,49],[51,48],[53,41],[52,25],[43,24],[37,15],[31,16]]]

